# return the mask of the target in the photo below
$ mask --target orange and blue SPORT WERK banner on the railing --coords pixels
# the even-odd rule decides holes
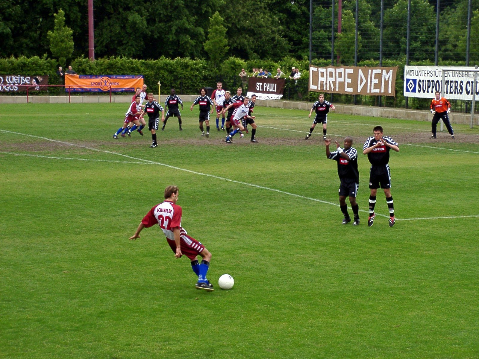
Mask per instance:
[[[65,74],[68,92],[135,91],[143,86],[143,75],[69,75]]]

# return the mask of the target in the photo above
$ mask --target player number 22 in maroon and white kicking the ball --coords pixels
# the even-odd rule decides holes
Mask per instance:
[[[137,231],[130,240],[140,238],[143,228],[158,224],[166,236],[166,240],[175,254],[175,258],[181,258],[184,254],[191,260],[191,268],[198,276],[195,287],[206,291],[214,291],[213,285],[206,279],[206,273],[211,261],[211,253],[193,237],[188,236],[181,226],[182,208],[176,204],[178,201],[178,187],[168,186],[165,188],[165,201],[157,204],[143,217]],[[198,263],[197,257],[203,260]]]

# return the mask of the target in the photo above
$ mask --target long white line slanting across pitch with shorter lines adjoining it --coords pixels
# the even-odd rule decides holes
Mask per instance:
[[[35,136],[35,135],[22,134],[22,133],[19,133],[19,132],[13,132],[13,131],[7,131],[7,130],[0,130],[0,132],[10,133],[10,134],[15,134],[15,135],[29,136],[29,137],[34,137],[34,138],[41,138],[41,139],[44,139],[44,140],[47,140],[47,141],[56,142],[56,143],[61,143],[61,144],[68,145],[68,146],[86,148],[86,149],[90,149],[90,150],[97,151],[97,152],[103,152],[103,153],[108,153],[108,154],[111,154],[111,155],[117,155],[117,156],[122,156],[122,157],[130,158],[130,159],[134,159],[134,160],[136,160],[136,161],[142,161],[142,162],[139,162],[139,163],[141,163],[141,164],[151,164],[151,165],[164,166],[164,167],[168,167],[168,168],[176,169],[176,170],[179,170],[179,171],[184,171],[184,172],[192,173],[192,174],[199,175],[199,176],[211,177],[211,178],[214,178],[214,179],[220,179],[220,180],[224,180],[224,181],[228,181],[228,182],[232,182],[232,183],[242,184],[242,185],[249,186],[249,187],[259,188],[259,189],[262,189],[262,190],[267,190],[267,191],[273,191],[273,192],[277,192],[277,193],[282,193],[282,194],[286,194],[286,195],[288,195],[288,196],[292,196],[292,197],[296,197],[296,198],[301,198],[301,199],[305,199],[305,200],[308,200],[308,201],[320,202],[320,203],[330,204],[330,205],[332,205],[332,206],[339,207],[339,204],[337,204],[337,203],[328,202],[328,201],[323,201],[323,200],[319,200],[319,199],[317,199],[317,198],[306,197],[306,196],[302,196],[302,195],[300,195],[300,194],[291,193],[291,192],[286,192],[286,191],[281,191],[281,190],[277,190],[277,189],[270,188],[270,187],[264,187],[264,186],[259,186],[259,185],[252,184],[252,183],[248,183],[248,182],[242,182],[242,181],[237,181],[237,180],[234,180],[234,179],[228,179],[228,178],[225,178],[225,177],[219,177],[219,176],[215,176],[215,175],[210,175],[210,174],[207,174],[207,173],[202,173],[202,172],[193,171],[193,170],[191,170],[191,169],[186,169],[186,168],[181,168],[181,167],[175,167],[175,166],[167,165],[167,164],[160,163],[160,162],[150,161],[150,160],[148,160],[148,159],[131,157],[131,156],[124,155],[124,154],[117,153],[117,152],[113,152],[113,151],[101,150],[101,149],[97,149],[97,148],[93,148],[93,147],[88,147],[88,146],[82,146],[82,145],[72,144],[72,143],[65,142],[65,141],[58,141],[58,140],[54,140],[54,139],[48,138],[48,137],[41,137],[41,136]],[[11,154],[11,152],[0,152],[0,153]],[[68,158],[68,157],[63,157],[63,158],[62,158],[62,157],[48,157],[48,156],[24,155],[24,154],[13,154],[13,155],[16,155],[16,156],[30,156],[30,157],[42,157],[42,158],[52,158],[52,159],[69,159],[69,160],[70,160],[70,158]],[[78,160],[78,158],[71,158],[71,160]],[[89,159],[85,159],[85,160],[86,160],[86,161],[98,161],[98,160],[93,160],[93,159],[90,159],[90,160],[89,160]],[[106,161],[104,161],[104,162],[106,162]],[[131,162],[131,161],[112,161],[112,162],[119,162],[119,163],[137,163],[137,162]],[[359,210],[359,211],[360,211],[360,212],[364,212],[364,213],[368,213],[368,211],[365,211],[365,210]],[[385,217],[385,218],[388,218],[388,217],[389,217],[389,215],[385,215],[385,214],[381,214],[381,213],[377,213],[377,212],[376,212],[376,215],[381,216],[381,217]],[[453,216],[446,216],[446,217],[404,218],[404,219],[396,218],[396,220],[398,220],[398,221],[413,221],[413,220],[425,220],[425,219],[449,219],[449,218],[468,218],[468,217],[479,217],[479,214],[478,214],[478,215],[467,215],[467,216],[454,216],[454,217],[453,217]]]

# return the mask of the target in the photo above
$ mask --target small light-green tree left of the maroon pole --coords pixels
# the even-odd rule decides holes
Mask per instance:
[[[65,25],[65,12],[59,10],[55,16],[55,27],[48,31],[47,37],[50,41],[50,51],[58,59],[58,62],[65,66],[67,60],[73,53],[73,31]]]

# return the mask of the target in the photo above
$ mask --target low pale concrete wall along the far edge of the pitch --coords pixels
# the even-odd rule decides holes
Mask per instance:
[[[161,95],[160,103],[164,103],[167,95]],[[193,102],[198,95],[181,95],[183,102]],[[115,103],[128,103],[131,101],[130,95],[114,95],[111,99]],[[30,96],[31,103],[68,103],[68,95],[65,96]],[[71,103],[108,103],[110,96],[78,96],[70,97]],[[26,103],[26,96],[0,96],[1,103]],[[283,100],[257,100],[257,106],[276,107],[292,110],[309,111],[310,102],[300,101],[283,101]],[[429,109],[425,110],[406,110],[391,107],[372,107],[359,105],[343,105],[338,104],[335,113],[348,115],[384,117],[384,118],[401,118],[416,121],[431,121],[431,113]],[[452,116],[451,116],[452,114]],[[451,123],[469,124],[471,121],[470,113],[453,112],[449,115]],[[474,116],[474,125],[479,125],[479,114]]]

